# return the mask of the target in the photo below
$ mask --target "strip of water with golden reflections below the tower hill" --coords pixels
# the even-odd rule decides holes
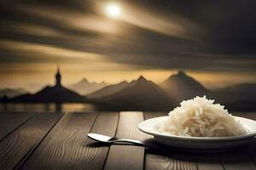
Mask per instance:
[[[0,104],[0,111],[38,111],[38,112],[55,112],[55,111],[96,111],[96,107],[90,104]]]

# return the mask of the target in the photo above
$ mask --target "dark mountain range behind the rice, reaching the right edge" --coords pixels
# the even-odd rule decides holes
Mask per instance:
[[[123,108],[129,110],[143,108],[150,111],[170,111],[184,99],[203,95],[215,99],[216,103],[225,105],[230,111],[256,111],[256,84],[243,83],[213,91],[183,71],[168,77],[159,86],[140,77],[137,81],[120,82],[102,88],[87,97],[100,104],[125,105]]]

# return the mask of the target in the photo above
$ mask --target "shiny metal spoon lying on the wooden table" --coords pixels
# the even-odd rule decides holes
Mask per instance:
[[[87,136],[90,139],[94,139],[96,141],[108,143],[108,144],[137,144],[141,146],[147,146],[146,144],[143,143],[143,141],[139,141],[139,140],[118,139],[118,138],[97,134],[97,133],[88,133]]]

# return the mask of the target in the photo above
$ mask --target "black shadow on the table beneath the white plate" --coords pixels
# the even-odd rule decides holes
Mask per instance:
[[[255,150],[256,139],[252,144],[242,145],[229,150],[185,150],[180,148],[168,147],[159,144],[154,139],[144,141],[148,147],[146,154],[154,160],[174,159],[179,161],[190,161],[195,163],[222,164],[222,163],[244,163],[250,161],[250,150]],[[160,159],[157,159],[160,158]],[[252,159],[251,159],[252,160]]]

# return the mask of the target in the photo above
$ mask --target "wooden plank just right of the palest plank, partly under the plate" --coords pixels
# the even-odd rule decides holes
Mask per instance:
[[[145,119],[167,116],[166,112],[145,112]],[[194,157],[186,152],[168,150],[163,153],[159,150],[146,150],[145,169],[191,169],[196,170]]]

